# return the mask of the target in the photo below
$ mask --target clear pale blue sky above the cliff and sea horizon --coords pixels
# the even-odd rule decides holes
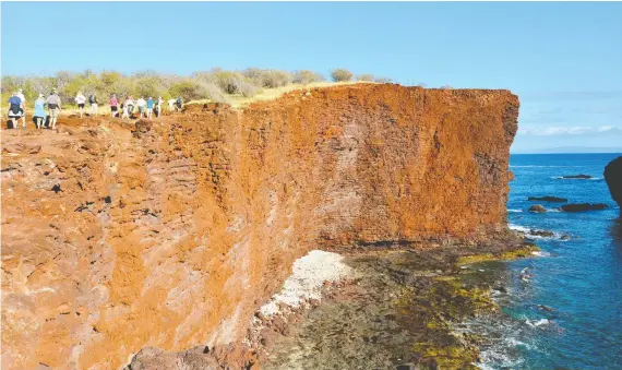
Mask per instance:
[[[2,73],[344,67],[509,88],[514,152],[622,148],[622,3],[3,2]]]

